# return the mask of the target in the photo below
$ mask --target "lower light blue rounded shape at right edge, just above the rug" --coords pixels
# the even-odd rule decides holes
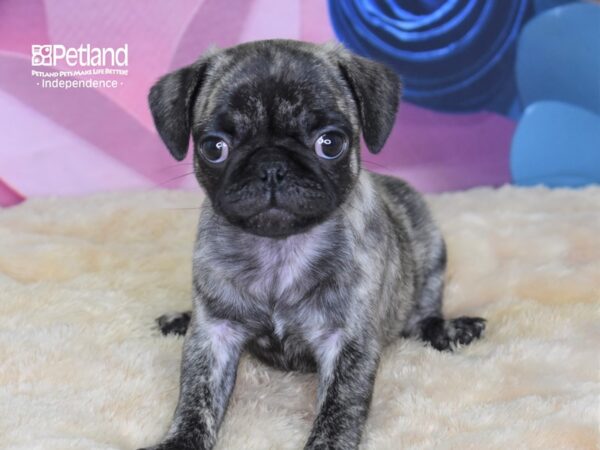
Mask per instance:
[[[519,185],[600,183],[600,115],[556,101],[530,105],[513,137],[510,167]]]

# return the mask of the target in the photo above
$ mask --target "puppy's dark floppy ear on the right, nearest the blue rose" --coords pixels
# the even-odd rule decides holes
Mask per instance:
[[[367,148],[378,153],[394,126],[402,85],[398,75],[383,64],[347,55],[338,64],[358,108]]]

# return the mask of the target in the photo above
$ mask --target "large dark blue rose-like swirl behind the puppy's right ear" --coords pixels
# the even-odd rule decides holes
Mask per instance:
[[[329,0],[342,43],[402,75],[404,97],[443,111],[505,112],[528,0]]]

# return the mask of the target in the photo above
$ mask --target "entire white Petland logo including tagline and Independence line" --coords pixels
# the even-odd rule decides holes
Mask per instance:
[[[123,85],[119,77],[129,73],[129,47],[93,47],[81,44],[31,46],[31,75],[37,85],[54,89],[115,89]]]

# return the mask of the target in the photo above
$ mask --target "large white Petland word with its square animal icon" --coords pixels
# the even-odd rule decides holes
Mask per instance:
[[[127,44],[117,49],[97,48],[90,44],[68,48],[60,44],[32,45],[31,65],[54,67],[64,62],[69,67],[126,67],[128,50]]]

